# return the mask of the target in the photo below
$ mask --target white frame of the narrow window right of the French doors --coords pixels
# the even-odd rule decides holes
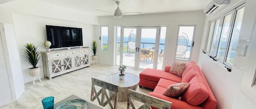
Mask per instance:
[[[174,60],[179,60],[179,61],[185,61],[185,62],[188,62],[188,61],[190,61],[191,60],[191,58],[192,58],[192,51],[193,51],[193,47],[192,47],[192,45],[190,45],[190,54],[189,54],[189,59],[185,59],[185,60],[182,60],[182,59],[177,59],[176,58],[176,53],[177,53],[177,44],[178,44],[178,34],[180,33],[180,27],[194,27],[194,31],[193,31],[193,38],[192,38],[192,43],[194,42],[194,36],[195,36],[195,30],[197,29],[197,25],[183,25],[183,24],[179,24],[178,25],[178,32],[177,32],[177,40],[176,40],[176,48],[175,48],[175,56],[174,56]],[[191,44],[192,44],[191,43]]]

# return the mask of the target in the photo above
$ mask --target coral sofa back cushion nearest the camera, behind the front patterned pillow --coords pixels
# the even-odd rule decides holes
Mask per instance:
[[[181,97],[181,100],[187,101],[190,105],[200,105],[209,97],[209,91],[204,85],[204,80],[200,75],[194,76],[189,82],[187,91]]]

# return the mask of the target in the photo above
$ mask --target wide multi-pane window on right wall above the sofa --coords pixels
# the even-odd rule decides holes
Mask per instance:
[[[209,25],[206,52],[228,67],[234,64],[244,10],[241,5]]]

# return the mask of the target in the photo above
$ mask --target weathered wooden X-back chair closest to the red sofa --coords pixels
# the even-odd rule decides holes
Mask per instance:
[[[132,89],[129,89],[128,93],[129,99],[127,101],[127,109],[130,107],[132,107],[132,109],[136,109],[133,100],[144,103],[144,105],[140,106],[138,109],[148,109],[151,108],[151,106],[159,109],[170,109],[171,107],[171,102],[169,101],[142,94],[140,92],[133,91]]]

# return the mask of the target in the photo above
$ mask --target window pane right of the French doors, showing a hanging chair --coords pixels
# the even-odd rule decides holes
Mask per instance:
[[[192,47],[195,26],[180,26],[175,59],[189,61]]]

